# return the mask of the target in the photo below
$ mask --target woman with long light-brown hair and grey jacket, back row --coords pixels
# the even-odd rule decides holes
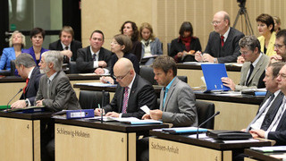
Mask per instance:
[[[152,55],[163,55],[162,42],[156,38],[152,26],[144,22],[140,27],[140,39],[142,43],[142,58]],[[145,65],[153,64],[154,57],[147,59]],[[141,62],[142,64],[142,62]]]

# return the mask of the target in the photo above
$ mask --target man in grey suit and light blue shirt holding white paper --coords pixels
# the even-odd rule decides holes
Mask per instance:
[[[161,90],[160,109],[150,110],[142,119],[162,120],[173,126],[198,126],[196,98],[189,85],[179,80],[177,67],[172,57],[158,56],[153,65],[155,80],[164,86]]]

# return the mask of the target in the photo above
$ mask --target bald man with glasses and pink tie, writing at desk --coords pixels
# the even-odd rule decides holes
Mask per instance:
[[[121,58],[114,64],[114,77],[118,85],[111,103],[103,107],[106,116],[140,119],[145,114],[141,106],[156,108],[156,94],[152,85],[136,74],[129,59]],[[100,115],[101,110],[96,108],[95,114]]]

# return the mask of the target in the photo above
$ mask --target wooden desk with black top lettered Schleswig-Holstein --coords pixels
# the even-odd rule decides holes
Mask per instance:
[[[137,136],[163,127],[55,119],[55,160],[136,160]]]

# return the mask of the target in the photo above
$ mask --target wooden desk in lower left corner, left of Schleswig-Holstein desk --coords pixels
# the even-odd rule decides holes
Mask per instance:
[[[1,160],[41,160],[40,122],[51,113],[0,112]]]

